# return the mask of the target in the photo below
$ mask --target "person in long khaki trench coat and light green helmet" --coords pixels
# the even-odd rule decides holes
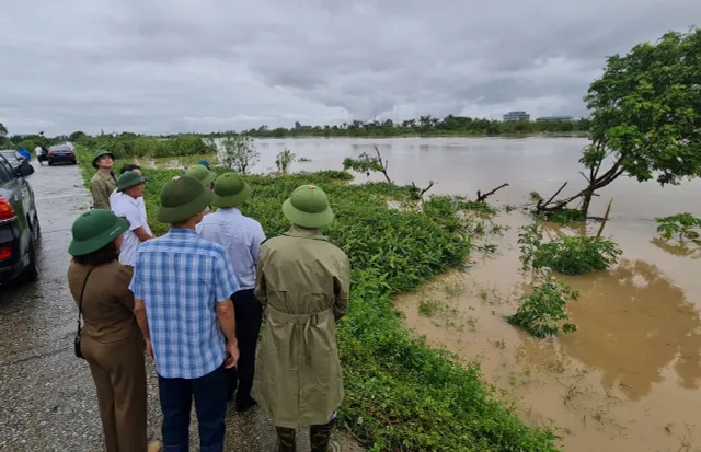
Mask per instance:
[[[319,231],[334,218],[321,188],[298,187],[283,212],[292,227],[261,245],[256,270],[266,326],[253,398],[277,429],[278,451],[295,451],[295,429],[308,427],[312,452],[336,451],[330,443],[343,399],[336,322],[348,308],[350,263]]]

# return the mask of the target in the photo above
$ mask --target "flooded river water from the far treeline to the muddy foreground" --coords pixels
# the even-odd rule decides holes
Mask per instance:
[[[508,183],[490,198],[497,205],[522,205],[532,190],[549,196],[565,181],[564,194],[582,188],[577,160],[587,143],[579,138],[255,142],[258,172],[273,171],[283,149],[311,160],[295,162],[292,171],[317,171],[341,169],[345,157],[375,152],[377,144],[397,183],[424,186],[433,179],[432,193],[472,198],[478,189]],[[579,292],[568,306],[577,332],[556,340],[535,340],[504,321],[516,312],[526,282],[516,237],[529,220],[518,211],[494,219],[505,227],[486,239],[496,253],[474,251],[468,274],[444,275],[399,297],[397,305],[429,344],[480,362],[485,379],[504,390],[505,403],[525,421],[555,429],[565,451],[701,450],[701,254],[654,240],[655,217],[701,216],[700,194],[700,181],[660,188],[627,177],[600,192],[590,213],[602,216],[613,198],[605,235],[619,243],[623,256],[608,271],[562,278]],[[547,228],[551,235],[582,232]],[[421,304],[435,312],[420,314]]]

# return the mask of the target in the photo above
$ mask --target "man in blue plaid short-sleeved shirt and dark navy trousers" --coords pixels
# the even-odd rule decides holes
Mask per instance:
[[[239,283],[225,250],[195,232],[212,197],[194,177],[163,187],[157,218],[171,229],[141,244],[129,287],[159,374],[164,452],[188,450],[193,397],[199,450],[223,450],[226,369],[239,359],[231,302]]]

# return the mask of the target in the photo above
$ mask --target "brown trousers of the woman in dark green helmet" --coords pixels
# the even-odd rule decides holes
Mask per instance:
[[[81,349],[97,390],[107,452],[145,452],[146,366],[139,336],[101,344],[83,335]]]

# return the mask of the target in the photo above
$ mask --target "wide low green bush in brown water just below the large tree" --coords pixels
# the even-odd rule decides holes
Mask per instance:
[[[607,239],[560,236],[536,250],[533,267],[547,267],[563,275],[586,275],[609,268],[621,253],[621,248]]]

